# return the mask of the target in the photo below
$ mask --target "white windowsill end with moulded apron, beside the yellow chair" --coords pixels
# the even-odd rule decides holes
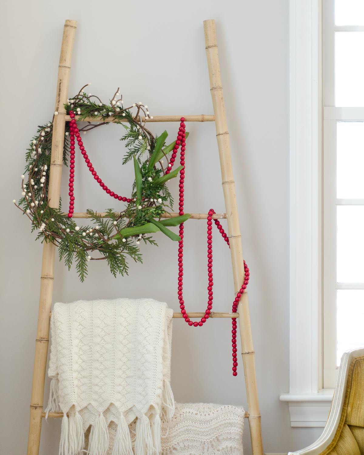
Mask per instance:
[[[316,394],[280,394],[287,401],[291,427],[324,427],[329,416],[334,389],[321,389]]]

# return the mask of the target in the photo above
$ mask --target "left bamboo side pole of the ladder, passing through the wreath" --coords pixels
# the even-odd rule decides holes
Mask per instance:
[[[68,82],[70,78],[73,40],[76,32],[76,20],[66,20],[63,29],[60,63],[56,91],[58,115],[53,118],[53,136],[51,166],[49,175],[48,201],[50,207],[58,208],[60,202],[63,142],[65,136]],[[40,276],[40,300],[38,312],[37,336],[35,340],[35,359],[33,384],[30,401],[30,425],[27,455],[38,455],[40,428],[42,425],[45,368],[49,342],[49,313],[52,304],[53,271],[56,246],[43,243],[42,271]]]

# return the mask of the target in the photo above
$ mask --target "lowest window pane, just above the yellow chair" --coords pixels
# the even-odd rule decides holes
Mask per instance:
[[[349,349],[364,347],[364,290],[337,291],[337,364]]]

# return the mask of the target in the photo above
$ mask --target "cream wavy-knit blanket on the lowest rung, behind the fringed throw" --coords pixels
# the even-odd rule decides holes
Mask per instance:
[[[162,420],[161,455],[243,455],[244,410],[219,404],[176,403],[170,420]],[[106,455],[112,455],[117,426],[110,422],[110,443]],[[136,422],[129,425],[135,440]],[[86,447],[89,430],[86,431]]]

